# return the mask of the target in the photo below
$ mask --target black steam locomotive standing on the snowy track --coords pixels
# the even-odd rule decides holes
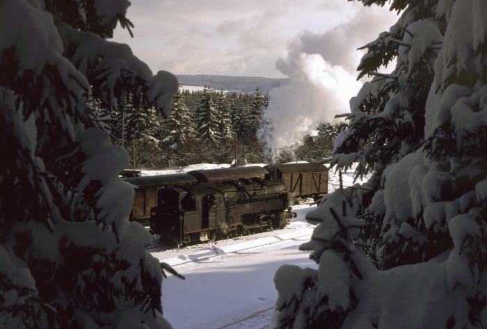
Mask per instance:
[[[150,232],[166,244],[226,239],[256,230],[284,228],[292,217],[281,179],[262,167],[188,172],[198,182],[159,189]]]

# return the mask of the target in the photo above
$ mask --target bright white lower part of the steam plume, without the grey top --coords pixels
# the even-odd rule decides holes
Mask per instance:
[[[260,130],[260,136],[266,138],[271,157],[301,143],[320,122],[332,122],[335,114],[347,112],[349,99],[362,85],[342,66],[330,65],[319,54],[303,53],[289,69],[294,72],[289,83],[271,90],[269,109],[263,113],[269,125]]]

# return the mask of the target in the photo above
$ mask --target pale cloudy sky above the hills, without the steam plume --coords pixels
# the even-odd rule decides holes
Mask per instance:
[[[131,1],[127,17],[134,38],[118,28],[113,41],[131,46],[154,73],[278,78],[287,74],[276,62],[296,49],[296,38],[304,33],[309,51],[354,70],[360,55],[343,53],[356,52],[389,29],[393,14],[380,9],[346,0]],[[365,12],[367,19],[360,19]],[[327,44],[320,43],[320,35],[353,21],[353,28],[337,30]]]

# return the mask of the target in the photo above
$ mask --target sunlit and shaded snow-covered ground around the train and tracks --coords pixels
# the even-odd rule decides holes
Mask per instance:
[[[142,175],[228,166],[202,163],[174,170],[143,170]],[[342,179],[344,186],[353,185],[353,170],[344,172]],[[330,171],[329,191],[338,186],[338,175]],[[278,298],[273,278],[277,269],[284,264],[317,268],[308,259],[308,252],[298,250],[314,229],[305,222],[305,214],[315,207],[311,201],[294,206],[298,216],[284,230],[179,249],[160,246],[154,240],[152,255],[186,278],[170,275],[163,281],[166,319],[175,329],[273,328]]]

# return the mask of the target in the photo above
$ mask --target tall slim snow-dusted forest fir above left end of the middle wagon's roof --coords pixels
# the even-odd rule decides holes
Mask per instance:
[[[212,92],[207,87],[201,93],[195,117],[196,136],[205,142],[218,143],[218,118]]]

